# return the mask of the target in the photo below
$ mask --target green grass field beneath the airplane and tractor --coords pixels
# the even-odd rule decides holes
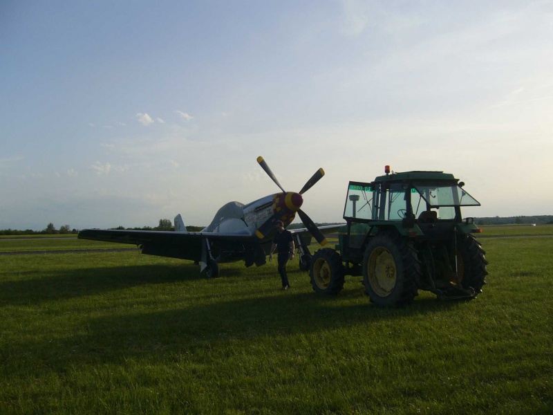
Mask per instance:
[[[316,295],[297,259],[280,291],[275,263],[3,256],[0,413],[550,414],[553,237],[483,243],[477,299],[399,309],[360,277]]]

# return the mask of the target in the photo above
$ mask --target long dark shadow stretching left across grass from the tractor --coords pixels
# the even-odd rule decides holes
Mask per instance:
[[[174,274],[166,277],[166,281],[180,278],[182,275]],[[155,282],[159,280],[144,275],[131,280],[126,277],[112,284],[111,289]],[[182,304],[170,311],[87,319],[79,333],[72,332],[55,344],[51,340],[22,341],[10,344],[10,349],[37,351],[41,360],[58,369],[68,365],[120,363],[129,358],[171,361],[182,353],[216,349],[214,356],[224,354],[229,344],[236,345],[235,342],[247,349],[247,344],[261,339],[270,339],[269,344],[277,339],[285,342],[283,338],[289,335],[323,333],[357,324],[384,324],[389,331],[393,330],[395,320],[425,318],[459,304],[421,299],[408,307],[382,309],[368,305],[368,299],[352,302],[351,297],[359,294],[346,293],[346,298],[340,299],[286,291],[270,297],[217,299],[195,306]]]

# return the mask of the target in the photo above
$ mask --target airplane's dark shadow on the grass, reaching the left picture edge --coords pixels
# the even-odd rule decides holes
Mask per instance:
[[[33,304],[101,294],[132,286],[203,278],[194,264],[89,268],[38,278],[32,278],[32,274],[26,273],[28,279],[0,282],[0,304]]]

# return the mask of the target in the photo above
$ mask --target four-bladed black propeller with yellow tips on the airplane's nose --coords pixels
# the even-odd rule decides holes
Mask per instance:
[[[259,163],[261,168],[265,170],[265,173],[268,174],[268,176],[272,179],[272,181],[274,181],[274,183],[277,186],[279,186],[280,190],[282,190],[284,193],[287,193],[284,190],[284,188],[281,186],[279,181],[277,180],[277,177],[274,176],[273,172],[271,171],[271,169],[269,168],[265,160],[263,160],[263,157],[259,156],[257,158],[257,163]],[[315,222],[311,220],[308,214],[306,214],[306,212],[303,212],[303,210],[299,209],[299,207],[303,202],[303,200],[301,199],[301,194],[304,194],[305,192],[310,190],[310,188],[313,187],[313,185],[315,185],[315,183],[317,183],[319,180],[321,180],[323,176],[324,176],[324,170],[322,168],[318,169],[317,172],[315,172],[315,174],[313,174],[313,176],[311,176],[311,178],[307,181],[307,183],[303,185],[303,187],[299,191],[299,194],[292,194],[291,196],[291,199],[294,198],[294,195],[299,196],[299,201],[296,202],[298,204],[294,203],[295,201],[292,201],[292,205],[296,207],[296,209],[294,210],[298,212],[299,219],[301,219],[301,221],[303,222],[303,225],[306,226],[307,230],[310,232],[310,234],[313,235],[313,237],[317,240],[317,242],[321,246],[326,245],[326,242],[327,242],[326,237],[324,236],[323,232],[321,232],[319,228],[317,228],[317,225],[315,225]],[[258,230],[256,230],[256,235],[260,239],[263,238],[265,234],[268,234],[272,230],[272,228],[274,228],[274,223],[276,221],[279,221],[284,216],[284,214],[285,214],[284,211],[274,214],[268,221],[265,221],[263,225],[259,227]]]

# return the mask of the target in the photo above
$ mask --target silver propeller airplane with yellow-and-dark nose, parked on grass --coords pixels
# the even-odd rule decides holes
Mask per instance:
[[[311,253],[308,246],[312,237],[324,246],[327,243],[325,234],[336,232],[341,226],[318,228],[301,210],[302,195],[324,176],[324,170],[318,169],[299,192],[286,192],[263,157],[259,156],[257,163],[282,192],[270,194],[247,205],[236,201],[226,203],[216,212],[212,223],[200,232],[187,232],[182,216],[178,214],[174,219],[174,231],[84,229],[78,237],[132,243],[140,248],[142,254],[188,259],[200,265],[200,273],[205,277],[214,278],[219,276],[218,264],[225,262],[243,260],[246,267],[266,264],[265,257],[270,252],[272,239],[277,232],[275,223],[283,221],[286,227],[298,214],[306,228],[290,232],[299,253],[299,268],[309,270]]]

